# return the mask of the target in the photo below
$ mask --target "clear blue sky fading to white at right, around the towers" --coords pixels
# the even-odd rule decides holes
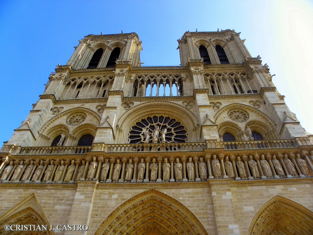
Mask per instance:
[[[0,143],[32,109],[58,63],[88,34],[136,32],[145,65],[179,65],[190,30],[234,29],[267,63],[278,91],[313,133],[311,1],[0,1]],[[2,143],[1,143],[2,144]],[[1,146],[0,144],[0,146]]]

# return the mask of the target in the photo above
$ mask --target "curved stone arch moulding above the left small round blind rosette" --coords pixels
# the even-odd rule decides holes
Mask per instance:
[[[86,118],[86,120],[88,119],[88,115],[90,115],[92,118],[95,118],[95,123],[93,123],[93,125],[96,125],[96,126],[99,126],[100,125],[100,120],[101,120],[101,118],[100,118],[100,116],[97,114],[97,113],[95,113],[94,111],[92,111],[91,109],[89,109],[89,108],[85,108],[85,107],[75,107],[75,108],[71,108],[71,109],[68,109],[68,110],[66,110],[66,111],[64,111],[64,112],[61,112],[61,113],[59,113],[58,115],[56,115],[56,116],[54,116],[53,118],[51,118],[46,124],[44,124],[44,126],[38,131],[38,133],[39,134],[44,134],[44,133],[46,133],[46,129],[48,128],[48,127],[50,127],[50,126],[53,126],[54,125],[54,123],[56,123],[57,122],[57,120],[58,119],[60,119],[60,118],[64,118],[64,120],[62,120],[62,122],[60,122],[60,123],[65,123],[65,119],[66,119],[66,117],[65,116],[68,116],[68,115],[70,115],[70,114],[72,114],[72,113],[79,113],[79,112],[81,112],[81,113],[85,113],[86,115],[87,115],[87,118]],[[85,124],[85,123],[84,123]],[[55,124],[55,125],[57,125],[57,124]]]

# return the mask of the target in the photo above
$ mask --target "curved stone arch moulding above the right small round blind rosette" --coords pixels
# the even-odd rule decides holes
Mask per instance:
[[[275,123],[272,121],[272,119],[267,116],[264,112],[254,108],[254,107],[251,107],[251,106],[248,106],[246,104],[240,104],[240,103],[232,103],[232,104],[229,104],[229,105],[226,105],[225,107],[223,107],[222,109],[220,109],[214,116],[214,123],[218,123],[217,120],[220,116],[222,116],[222,114],[224,112],[228,112],[228,110],[230,109],[243,109],[247,112],[254,112],[256,114],[258,114],[259,117],[263,118],[264,122],[263,123],[268,123],[270,128],[271,129],[275,129]],[[227,114],[226,114],[227,115]],[[250,115],[252,116],[252,115]],[[251,120],[251,119],[250,119]],[[247,120],[248,121],[248,120]],[[244,123],[244,122],[243,122]]]

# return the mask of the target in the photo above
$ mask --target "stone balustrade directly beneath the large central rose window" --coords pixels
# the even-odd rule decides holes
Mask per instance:
[[[111,152],[156,152],[156,151],[202,151],[205,143],[164,144],[94,144],[93,151]]]

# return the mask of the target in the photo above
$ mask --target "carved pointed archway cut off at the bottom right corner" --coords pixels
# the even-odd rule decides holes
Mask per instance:
[[[313,234],[313,212],[282,196],[267,201],[254,215],[248,233]]]

